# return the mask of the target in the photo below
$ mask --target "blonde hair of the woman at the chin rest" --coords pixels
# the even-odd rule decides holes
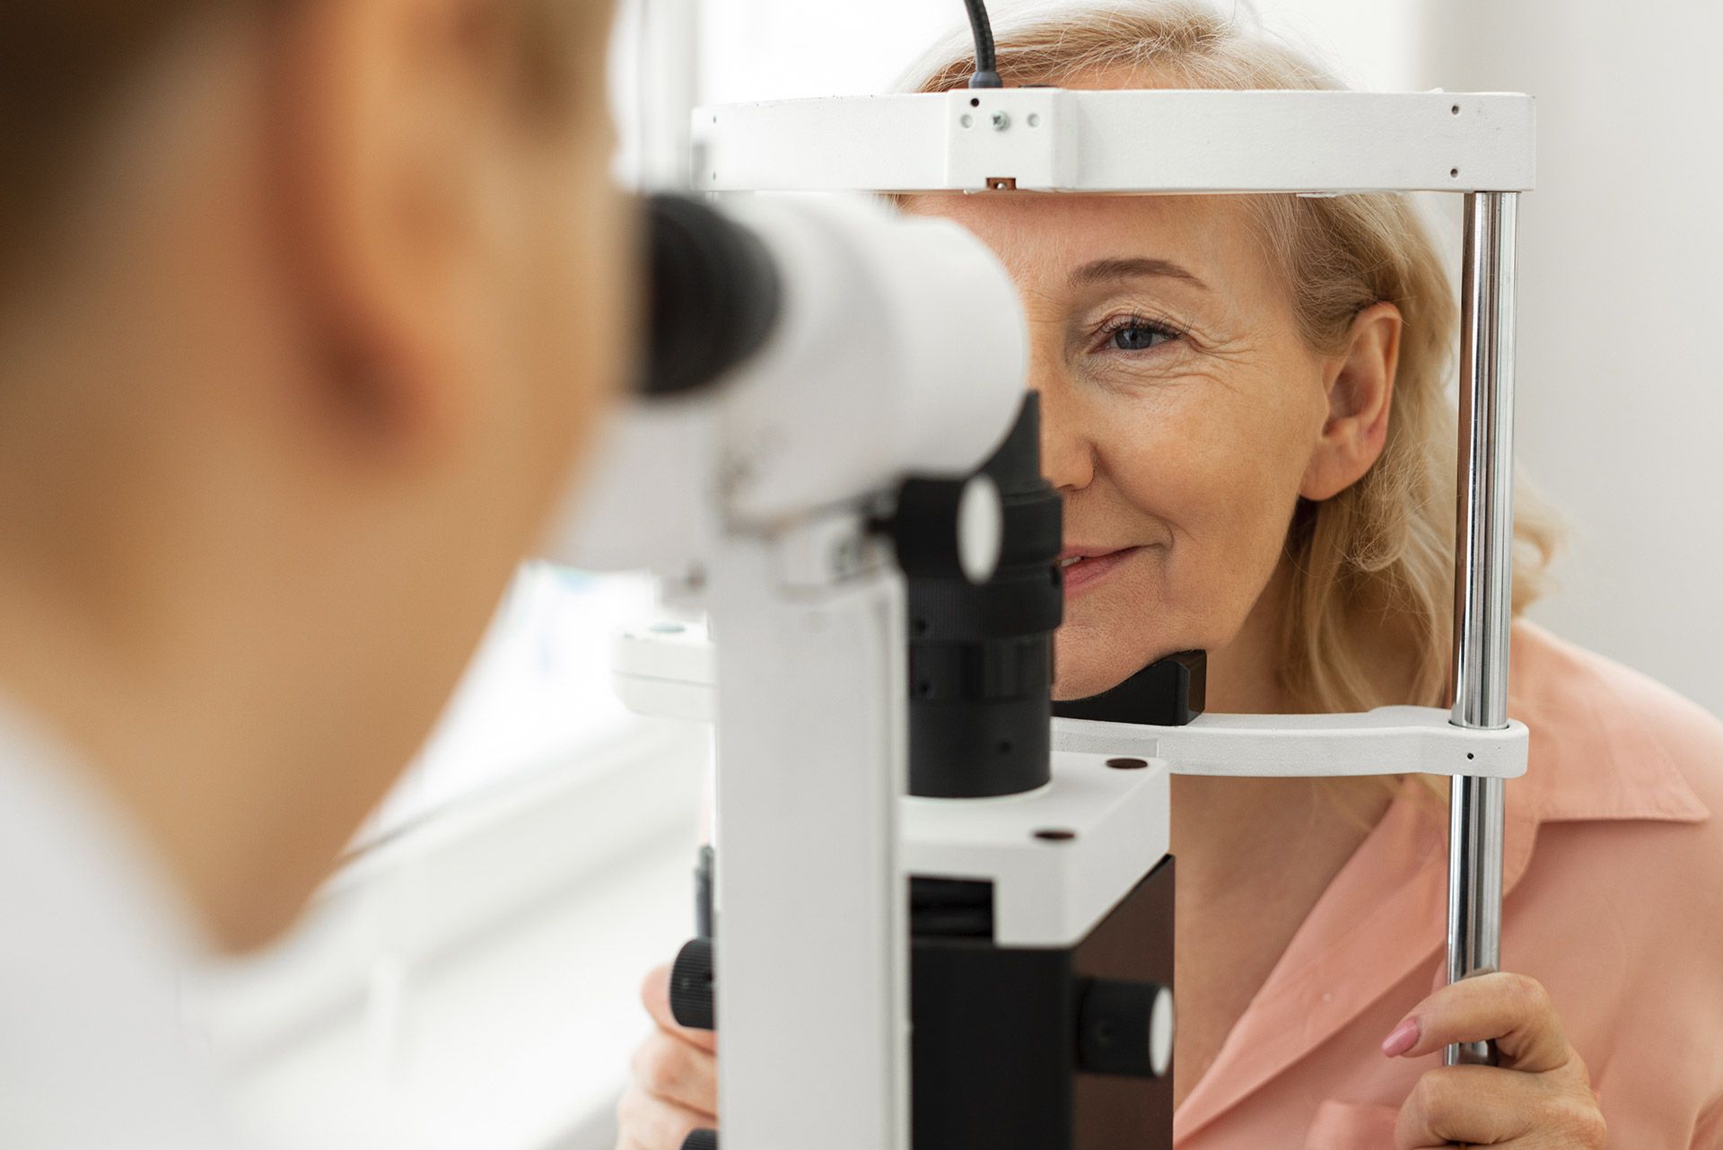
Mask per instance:
[[[1096,74],[1153,76],[1180,88],[1340,88],[1308,57],[1197,0],[1067,3],[994,29],[1006,84],[1072,84]],[[910,71],[911,91],[960,88],[968,41],[941,43]],[[1253,197],[1265,250],[1304,343],[1334,352],[1380,302],[1404,317],[1394,410],[1382,457],[1346,491],[1301,502],[1287,531],[1291,590],[1280,676],[1311,712],[1384,703],[1444,705],[1452,647],[1456,414],[1447,384],[1459,309],[1418,205],[1401,195]],[[1556,531],[1525,493],[1515,522],[1513,605],[1542,591]],[[1358,628],[1389,626],[1415,653],[1413,698],[1365,666]]]

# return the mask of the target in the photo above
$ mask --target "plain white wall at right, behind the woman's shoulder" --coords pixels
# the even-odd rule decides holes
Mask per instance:
[[[1428,0],[1421,86],[1530,91],[1520,460],[1571,524],[1535,616],[1723,714],[1723,5]]]

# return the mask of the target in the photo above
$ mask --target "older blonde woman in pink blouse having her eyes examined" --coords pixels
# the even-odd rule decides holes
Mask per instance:
[[[1067,88],[1334,86],[1185,0],[1001,29],[999,67]],[[953,43],[918,86],[968,69]],[[1199,647],[1216,712],[1444,702],[1456,317],[1411,203],[906,207],[967,224],[1022,290],[1044,469],[1080,555],[1060,697]],[[1518,538],[1516,609],[1551,543],[1525,502]],[[1515,974],[1440,986],[1446,819],[1427,781],[1175,779],[1180,1150],[1723,1147],[1723,726],[1527,622],[1511,700],[1533,731],[1508,788]],[[717,1124],[710,1036],[663,998],[660,971],[660,1029],[620,1105],[629,1150]],[[1485,1038],[1499,1067],[1439,1066]]]

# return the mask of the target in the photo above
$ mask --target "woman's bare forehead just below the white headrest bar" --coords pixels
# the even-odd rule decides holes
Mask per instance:
[[[1163,260],[1211,286],[1239,286],[1263,264],[1242,197],[924,195],[905,209],[963,224],[1013,271]]]

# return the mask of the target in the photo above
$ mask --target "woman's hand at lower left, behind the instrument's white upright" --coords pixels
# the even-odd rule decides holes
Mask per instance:
[[[658,1029],[634,1052],[634,1083],[617,1103],[617,1150],[681,1150],[696,1129],[718,1128],[718,1036],[670,1016],[670,967],[641,984]]]

